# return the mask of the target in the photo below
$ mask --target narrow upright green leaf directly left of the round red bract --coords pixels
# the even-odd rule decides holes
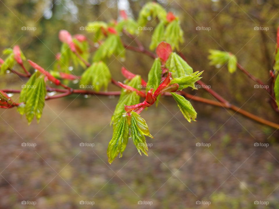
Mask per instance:
[[[153,65],[148,73],[148,81],[146,84],[146,91],[149,91],[151,88],[157,89],[161,82],[161,62],[159,58],[156,58],[153,62]]]

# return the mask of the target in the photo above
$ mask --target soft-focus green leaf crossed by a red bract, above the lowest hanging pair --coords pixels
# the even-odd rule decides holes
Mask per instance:
[[[140,89],[141,77],[136,75],[130,82],[126,82],[126,85],[133,87],[135,89]],[[137,95],[135,91],[129,91],[127,89],[122,89],[119,100],[115,107],[115,111],[111,118],[111,123],[113,124],[113,129],[115,129],[117,123],[119,122],[122,113],[125,112],[124,105],[135,105],[140,102],[140,96]]]

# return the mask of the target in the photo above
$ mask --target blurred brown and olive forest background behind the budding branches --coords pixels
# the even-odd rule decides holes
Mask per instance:
[[[53,68],[60,51],[60,29],[71,34],[89,21],[119,18],[127,9],[137,19],[148,1],[142,0],[0,0],[0,49],[18,44],[26,57]],[[228,73],[208,64],[208,50],[236,54],[239,63],[267,82],[272,69],[279,25],[279,2],[267,0],[160,0],[180,18],[181,45],[194,71],[232,104],[279,122],[264,89],[240,71]],[[150,25],[150,27],[155,26]],[[211,30],[196,30],[196,27]],[[269,30],[254,30],[255,26]],[[22,30],[35,27],[36,30]],[[153,31],[138,38],[148,48]],[[2,56],[3,58],[3,56]],[[123,64],[147,78],[152,59],[126,51],[126,61],[110,60],[112,77],[124,80]],[[81,73],[80,73],[81,74]],[[20,89],[26,80],[8,74],[0,89]],[[117,90],[110,86],[109,89]],[[188,90],[212,99],[203,89]],[[18,95],[12,98],[16,99]],[[108,165],[109,125],[118,97],[70,96],[46,102],[41,122],[30,126],[16,109],[0,112],[0,208],[279,208],[278,131],[232,111],[192,102],[197,122],[188,123],[171,98],[142,112],[155,139],[149,157],[140,156],[129,142],[123,158]],[[104,105],[105,104],[105,105]],[[22,147],[21,143],[36,143]],[[94,143],[80,147],[79,143]],[[196,147],[197,142],[210,147]],[[269,147],[255,147],[255,142]],[[24,200],[35,206],[22,205]],[[94,206],[79,201],[94,201]],[[197,205],[196,201],[211,204]],[[138,205],[152,201],[152,205]],[[267,206],[254,201],[269,201]]]

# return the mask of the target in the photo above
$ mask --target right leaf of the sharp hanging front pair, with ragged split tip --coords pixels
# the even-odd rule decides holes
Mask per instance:
[[[148,156],[147,154],[148,147],[144,135],[149,136],[151,138],[153,138],[153,136],[151,136],[145,120],[141,118],[140,115],[134,111],[131,112],[130,128],[131,128],[130,131],[131,137],[133,139],[135,146],[137,147],[137,151],[140,153],[140,155],[142,155],[141,153],[142,151],[145,155]]]

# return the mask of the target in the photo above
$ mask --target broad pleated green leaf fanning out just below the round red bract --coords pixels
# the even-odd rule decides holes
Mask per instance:
[[[172,73],[173,78],[179,78],[193,73],[192,67],[175,52],[172,52],[169,56],[166,67]]]

